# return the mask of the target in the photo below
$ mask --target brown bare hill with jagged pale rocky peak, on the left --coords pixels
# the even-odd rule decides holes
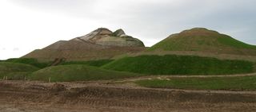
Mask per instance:
[[[99,28],[70,41],[57,41],[46,48],[37,49],[22,56],[39,60],[101,60],[129,52],[141,52],[145,46],[137,38],[126,35],[122,29],[114,33]]]

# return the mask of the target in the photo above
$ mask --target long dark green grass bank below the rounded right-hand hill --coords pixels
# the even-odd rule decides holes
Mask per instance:
[[[250,73],[254,64],[199,56],[135,56],[114,60],[102,68],[149,75],[226,75]]]

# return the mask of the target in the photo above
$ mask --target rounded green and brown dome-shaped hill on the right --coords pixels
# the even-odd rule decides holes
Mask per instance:
[[[198,51],[236,55],[256,55],[256,46],[216,31],[194,28],[170,35],[148,51]]]

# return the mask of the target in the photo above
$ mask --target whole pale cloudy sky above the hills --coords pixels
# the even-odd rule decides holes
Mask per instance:
[[[0,0],[0,60],[18,58],[101,27],[150,47],[203,27],[256,44],[255,0]]]

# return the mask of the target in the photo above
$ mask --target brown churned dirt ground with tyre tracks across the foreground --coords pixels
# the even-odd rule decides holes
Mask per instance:
[[[0,112],[256,111],[256,91],[150,89],[133,83],[0,81]]]

